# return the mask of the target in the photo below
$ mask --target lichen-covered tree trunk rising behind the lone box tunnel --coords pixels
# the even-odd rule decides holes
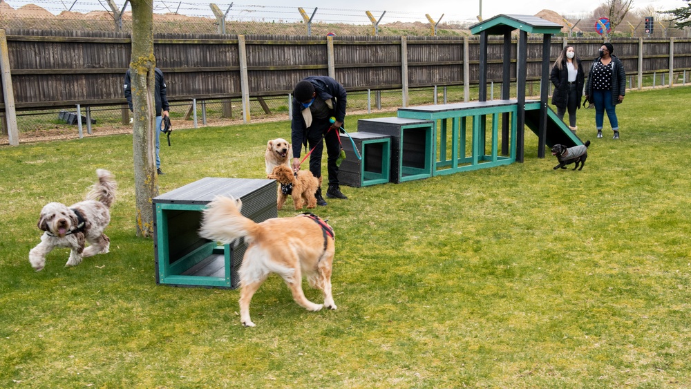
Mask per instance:
[[[155,75],[153,56],[153,6],[151,1],[131,0],[132,61],[130,75],[133,106],[133,156],[137,235],[153,234],[151,199],[158,196],[155,164]]]

